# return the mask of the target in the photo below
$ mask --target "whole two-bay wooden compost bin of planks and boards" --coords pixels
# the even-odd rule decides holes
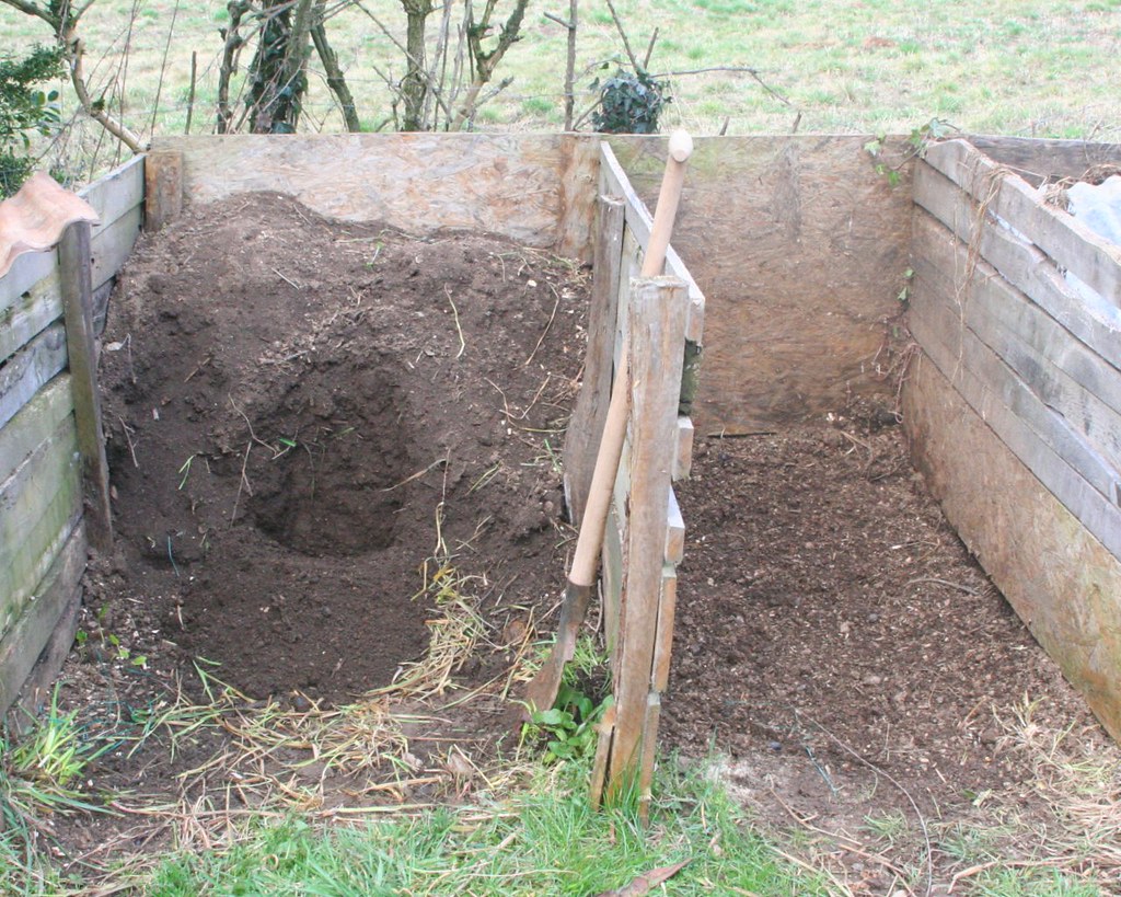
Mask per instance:
[[[1117,249],[1095,243],[1064,213],[1038,203],[1030,220],[1018,219],[1016,228],[1025,237],[1013,239],[993,226],[992,214],[1006,221],[1016,214],[995,202],[1028,200],[1015,178],[998,178],[994,196],[978,193],[974,175],[954,156],[972,159],[969,150],[935,147],[929,164],[904,165],[900,182],[892,185],[877,170],[865,142],[864,137],[830,136],[696,141],[669,261],[678,281],[664,285],[688,302],[689,313],[680,322],[684,391],[673,409],[674,449],[650,468],[668,490],[669,477],[687,472],[694,428],[705,437],[821,419],[853,396],[893,408],[897,383],[887,376],[883,351],[893,333],[906,334],[898,297],[914,268],[911,321],[920,351],[902,407],[916,457],[962,537],[1119,736],[1121,474],[1117,443],[1111,442],[1121,413],[1121,390],[1114,391],[1121,358]],[[608,287],[599,283],[604,270],[597,271],[596,287],[597,296],[602,289],[602,296],[618,299],[649,287],[631,286],[629,274],[637,268],[648,228],[639,200],[652,204],[657,195],[665,140],[611,138],[605,144],[611,152],[601,145],[594,136],[573,135],[161,140],[147,163],[138,160],[89,192],[105,222],[94,235],[94,280],[108,280],[137,233],[146,165],[151,223],[174,218],[183,203],[272,189],[339,219],[380,219],[414,232],[487,230],[591,261],[604,239],[602,222],[621,215],[622,226],[615,225],[608,240],[618,270],[606,272]],[[1117,147],[1084,144],[978,138],[975,145],[1002,164],[1045,176],[1078,175],[1093,161],[1121,159]],[[889,140],[881,158],[893,164],[906,149],[905,140]],[[618,165],[611,164],[612,156]],[[95,201],[98,189],[104,192],[101,201]],[[966,195],[971,191],[984,200],[980,205],[989,219]],[[1000,200],[1006,193],[1012,198]],[[618,198],[601,198],[605,196]],[[117,223],[124,219],[127,224]],[[1035,235],[1040,222],[1045,231],[1057,228],[1064,234],[1062,249],[1050,248],[1046,234]],[[110,240],[104,234],[111,231],[119,235]],[[618,244],[611,242],[615,240]],[[1062,255],[1071,244],[1076,246],[1074,255]],[[108,246],[114,247],[112,252]],[[1106,297],[1099,309],[1072,305],[1058,277],[1058,267],[1077,271],[1087,258],[1090,276],[1084,279]],[[4,683],[22,682],[28,659],[41,651],[52,631],[57,634],[55,648],[68,644],[73,623],[66,622],[66,613],[74,607],[85,554],[72,454],[49,449],[73,438],[63,432],[68,425],[55,423],[54,431],[48,427],[33,438],[24,423],[30,416],[15,411],[39,400],[33,397],[53,394],[62,396],[52,399],[58,403],[58,420],[68,414],[65,380],[58,379],[65,377],[65,346],[50,323],[57,312],[37,312],[34,323],[12,323],[31,320],[27,309],[36,305],[35,296],[49,293],[52,266],[49,258],[28,257],[18,266],[20,279],[12,279],[13,272],[0,280],[6,315],[0,346],[7,359],[0,369],[0,400],[19,396],[11,399],[12,414],[0,429],[0,553],[6,568],[18,555],[29,571],[18,590],[6,586],[2,595],[10,608],[0,653]],[[955,317],[947,303],[963,289],[976,296],[971,315]],[[1000,295],[991,305],[989,298],[978,299],[993,290]],[[610,361],[629,339],[626,315],[609,312],[605,320],[611,337],[593,333],[603,345],[599,372],[592,378],[590,369],[587,378],[589,389],[599,390],[601,398],[610,388]],[[984,330],[991,326],[995,331]],[[1015,337],[1008,343],[1012,354],[992,344],[991,334],[1006,331]],[[25,361],[17,364],[17,358]],[[22,374],[16,377],[21,370],[35,371],[37,385],[29,392],[13,386],[25,382]],[[569,471],[586,466],[590,446],[569,446]],[[28,490],[25,481],[37,470],[30,462],[49,451],[58,455],[57,463],[49,477],[43,475],[55,492],[62,484],[58,507],[49,496],[37,496],[43,507],[37,505],[31,517],[41,524],[9,523],[15,518],[8,508]],[[623,663],[620,631],[630,628],[624,584],[636,563],[629,523],[621,517],[627,510],[623,486],[617,488],[604,558],[605,618],[617,676]],[[687,521],[674,515],[670,494],[659,509],[661,540],[643,537],[659,547],[642,549],[652,551],[648,562],[657,571],[660,622],[647,620],[641,627],[646,635],[637,663],[645,666],[646,678],[638,715],[647,722],[652,718],[655,725],[671,635],[666,595],[671,602],[673,564],[686,544]],[[27,535],[33,530],[38,548]],[[48,604],[46,585],[55,581],[64,583],[64,598]],[[66,608],[71,611],[64,612]],[[647,658],[649,651],[654,654]],[[58,653],[52,657],[57,660]],[[3,695],[13,691],[8,687]],[[652,732],[647,722],[642,731]],[[633,732],[626,738],[633,739]],[[650,753],[652,739],[643,746],[641,733],[637,738],[620,756]]]

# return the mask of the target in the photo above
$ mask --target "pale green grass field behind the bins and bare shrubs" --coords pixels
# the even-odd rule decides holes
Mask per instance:
[[[788,133],[796,122],[800,132],[906,133],[941,118],[969,131],[1121,139],[1114,80],[1121,0],[619,0],[615,8],[638,56],[658,29],[652,72],[753,67],[787,100],[745,72],[674,75],[666,128],[714,133],[726,120],[733,135]],[[530,6],[525,38],[497,73],[513,81],[482,109],[476,128],[562,126],[566,35],[545,12],[563,17],[567,4]],[[402,35],[399,0],[363,0],[328,25],[370,129],[390,115],[386,80],[404,73],[401,53],[376,19]],[[95,0],[82,31],[95,92],[109,91],[115,110],[123,98],[126,120],[145,136],[182,132],[194,53],[192,132],[210,132],[219,28],[226,20],[219,0]],[[434,31],[438,13],[429,21]],[[16,49],[50,37],[41,21],[2,4],[0,34],[4,47]],[[593,99],[589,85],[600,66],[606,63],[610,72],[623,58],[604,0],[581,3],[578,41],[581,110]],[[317,59],[304,127],[342,127]]]

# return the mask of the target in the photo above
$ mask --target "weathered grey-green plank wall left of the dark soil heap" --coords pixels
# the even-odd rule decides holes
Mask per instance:
[[[99,324],[140,232],[143,159],[80,192],[99,213],[92,286]],[[21,256],[0,279],[0,713],[44,649],[68,647],[85,570],[81,455],[67,369],[58,252]],[[72,620],[68,623],[72,626]],[[49,678],[56,671],[49,671]],[[34,699],[34,696],[33,696]]]

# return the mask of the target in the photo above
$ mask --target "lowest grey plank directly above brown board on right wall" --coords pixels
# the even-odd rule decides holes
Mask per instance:
[[[1064,428],[1065,423],[1041,407],[1038,398],[1029,390],[1020,390],[1015,378],[1006,377],[1002,383],[990,387],[982,382],[966,363],[980,367],[976,348],[983,345],[964,327],[956,334],[946,334],[936,316],[928,314],[921,298],[924,283],[916,283],[918,302],[911,315],[911,332],[919,345],[928,353],[939,371],[961,391],[973,410],[992,428],[1012,454],[1030,470],[1039,481],[1082,521],[1111,552],[1121,556],[1121,512],[1102,492],[1091,486],[1075,471],[1039,433],[1028,425],[1026,418],[1048,434],[1048,438],[1063,446],[1072,457],[1077,457],[1071,440],[1073,431]],[[933,306],[933,304],[932,304]],[[929,361],[928,361],[929,363]],[[995,396],[992,389],[1001,389]],[[1011,403],[1011,405],[1010,405]],[[1015,405],[1015,410],[1011,407]],[[1023,415],[1021,417],[1020,415]],[[1084,455],[1085,457],[1086,455]]]

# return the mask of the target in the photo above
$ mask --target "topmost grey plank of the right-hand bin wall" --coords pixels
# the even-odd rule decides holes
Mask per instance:
[[[926,161],[1028,235],[1104,299],[1121,305],[1121,247],[1047,205],[1022,178],[1009,174],[964,140],[935,144],[927,149]]]

